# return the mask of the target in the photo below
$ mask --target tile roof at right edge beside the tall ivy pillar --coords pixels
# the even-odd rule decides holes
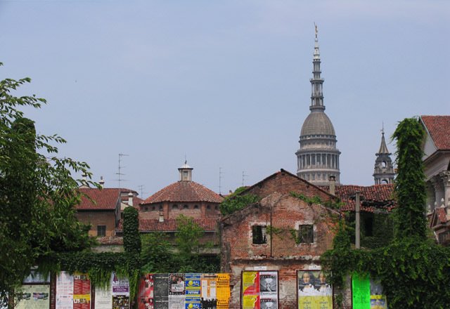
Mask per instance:
[[[420,116],[437,150],[450,150],[450,116]]]

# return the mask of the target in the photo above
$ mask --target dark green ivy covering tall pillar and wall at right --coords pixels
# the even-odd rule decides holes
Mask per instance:
[[[394,133],[399,172],[392,242],[373,250],[351,249],[341,223],[333,249],[321,256],[335,287],[344,287],[344,278],[354,272],[380,280],[390,308],[438,309],[450,303],[450,249],[425,237],[423,136],[417,119],[404,119]]]

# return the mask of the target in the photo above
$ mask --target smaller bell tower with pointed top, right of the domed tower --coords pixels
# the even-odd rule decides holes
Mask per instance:
[[[375,153],[377,158],[375,159],[375,169],[373,169],[373,179],[375,179],[375,185],[381,185],[386,183],[393,183],[395,172],[392,165],[391,155],[392,153],[387,150],[385,131],[381,131],[381,145],[380,150]]]

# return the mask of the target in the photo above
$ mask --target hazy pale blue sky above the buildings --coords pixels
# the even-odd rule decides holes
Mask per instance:
[[[105,187],[120,166],[149,197],[187,159],[226,193],[296,173],[315,22],[341,183],[373,185],[383,126],[395,152],[399,121],[450,114],[449,16],[446,0],[0,0],[0,79],[32,78],[16,94],[47,104],[26,116]]]

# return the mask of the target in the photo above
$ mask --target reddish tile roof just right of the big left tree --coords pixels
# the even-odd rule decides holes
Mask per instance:
[[[121,192],[135,192],[119,188],[79,188],[78,190],[92,201],[88,197],[82,196],[82,201],[76,206],[77,210],[114,210]]]

